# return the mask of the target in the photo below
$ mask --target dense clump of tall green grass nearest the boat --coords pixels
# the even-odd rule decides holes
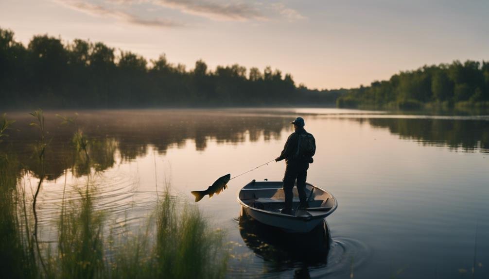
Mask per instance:
[[[166,191],[157,209],[156,230],[159,277],[224,277],[223,233],[212,230],[196,206],[179,208]]]

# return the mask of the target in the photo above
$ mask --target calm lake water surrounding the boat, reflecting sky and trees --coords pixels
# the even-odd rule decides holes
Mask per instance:
[[[270,163],[229,182],[198,203],[233,241],[230,277],[489,278],[489,116],[394,115],[342,109],[78,111],[76,127],[46,112],[51,140],[48,181],[38,201],[41,237],[56,239],[65,185],[69,199],[87,174],[71,166],[70,140],[80,127],[96,140],[90,183],[107,233],[143,228],[156,193],[171,184],[182,202],[222,175],[243,173],[277,157],[297,116],[316,139],[308,181],[330,191],[338,209],[324,230],[290,236],[240,219],[239,189],[252,179],[281,180],[285,163]],[[38,181],[32,146],[38,132],[27,113],[7,145]],[[4,144],[5,145],[5,144]],[[472,267],[475,265],[474,277]]]

